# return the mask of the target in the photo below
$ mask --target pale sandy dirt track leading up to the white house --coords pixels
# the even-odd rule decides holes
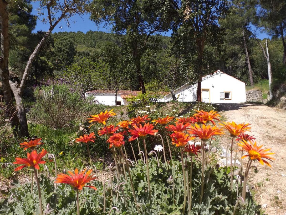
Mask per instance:
[[[286,215],[286,112],[259,104],[221,104],[219,110],[228,122],[251,123],[257,144],[276,153],[272,168],[255,162],[258,173],[251,171],[249,183],[267,214]]]

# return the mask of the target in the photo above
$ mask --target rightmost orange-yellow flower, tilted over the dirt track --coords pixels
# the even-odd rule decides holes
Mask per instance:
[[[269,156],[269,155],[275,154],[275,153],[268,152],[271,148],[262,149],[263,145],[257,146],[256,141],[255,143],[253,143],[253,142],[247,142],[243,140],[243,141],[239,141],[238,145],[242,147],[243,151],[247,152],[247,155],[242,156],[241,159],[245,157],[249,157],[251,160],[259,161],[259,163],[261,163],[262,165],[266,163],[266,165],[269,167],[271,167],[271,165],[265,159],[269,161],[275,160],[273,157]]]

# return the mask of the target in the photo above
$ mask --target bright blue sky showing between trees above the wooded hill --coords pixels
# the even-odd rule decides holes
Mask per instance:
[[[33,5],[33,10],[32,13],[37,15],[37,7],[39,6],[39,1],[34,1],[31,2],[31,4]],[[61,25],[63,26],[63,28],[59,28],[61,25],[60,23],[55,27],[55,29],[53,30],[53,32],[60,32],[60,31],[81,31],[81,32],[88,32],[89,30],[92,31],[103,31],[103,32],[111,32],[111,26],[104,26],[104,24],[97,26],[94,22],[92,22],[89,19],[89,14],[85,14],[82,15],[81,17],[79,15],[75,15],[74,17],[71,18],[72,21],[76,21],[74,22],[70,22],[70,27],[68,28],[65,24],[65,22],[63,21],[61,23]],[[44,16],[45,17],[45,16]],[[42,17],[40,17],[40,19],[42,19]],[[41,22],[39,19],[37,20],[37,26],[34,30],[34,32],[37,32],[39,30],[42,31],[47,31],[49,29],[49,25],[45,24],[43,22]],[[268,38],[268,35],[265,33],[261,33],[260,30],[258,30],[257,32],[258,38],[259,39],[264,39],[264,38]],[[169,32],[162,32],[161,33],[164,36],[171,36],[172,34],[172,30],[170,30]]]

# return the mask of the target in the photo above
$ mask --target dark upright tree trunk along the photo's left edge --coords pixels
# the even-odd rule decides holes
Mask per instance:
[[[15,126],[14,135],[19,131],[19,119],[16,109],[13,106],[11,87],[9,84],[9,19],[7,12],[7,2],[0,0],[0,27],[1,27],[1,52],[0,52],[0,77],[2,81],[2,89],[4,93],[5,105],[7,107],[7,117],[11,118],[11,126]]]

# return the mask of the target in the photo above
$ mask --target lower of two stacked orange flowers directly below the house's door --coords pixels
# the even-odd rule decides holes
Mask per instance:
[[[211,127],[210,125],[202,125],[202,128],[198,124],[194,126],[190,126],[188,132],[193,134],[195,137],[199,137],[202,141],[206,141],[214,135],[222,135],[225,134],[222,129],[217,126]]]

